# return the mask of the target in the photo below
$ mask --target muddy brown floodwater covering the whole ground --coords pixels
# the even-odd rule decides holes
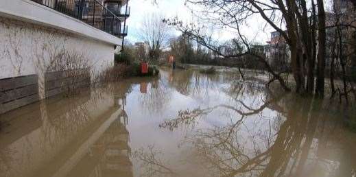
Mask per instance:
[[[0,176],[355,176],[352,110],[161,70],[0,115]]]

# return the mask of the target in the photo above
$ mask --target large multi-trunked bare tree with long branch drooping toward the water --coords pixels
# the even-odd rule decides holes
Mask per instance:
[[[241,56],[254,55],[272,75],[283,85],[280,74],[270,69],[268,58],[252,54],[246,34],[242,33],[241,26],[252,18],[260,18],[266,25],[272,27],[285,39],[290,51],[290,68],[296,84],[296,92],[312,95],[314,82],[317,79],[315,92],[318,95],[324,93],[324,66],[325,66],[325,12],[322,0],[187,0],[188,4],[198,5],[196,10],[200,14],[201,21],[211,25],[228,27],[235,30],[237,38],[244,42],[246,51],[226,58],[241,59]],[[201,45],[215,50],[219,47],[207,42],[200,29],[187,27],[177,21],[173,24],[183,33],[193,36]],[[317,35],[318,32],[318,35]],[[318,54],[317,54],[318,44]],[[219,51],[216,51],[219,54]],[[316,65],[316,58],[318,63]],[[316,66],[317,75],[314,75]],[[283,86],[287,88],[286,86]],[[286,89],[287,90],[287,89]]]

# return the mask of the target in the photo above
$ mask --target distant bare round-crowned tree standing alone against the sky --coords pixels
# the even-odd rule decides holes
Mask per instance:
[[[164,17],[161,14],[147,14],[141,23],[140,36],[148,44],[150,50],[148,58],[158,60],[162,49],[167,45],[169,38],[169,26],[163,23]]]

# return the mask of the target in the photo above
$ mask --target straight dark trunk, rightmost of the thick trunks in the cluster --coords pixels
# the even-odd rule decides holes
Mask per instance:
[[[323,0],[318,2],[318,73],[316,78],[316,95],[324,97],[324,82],[325,82],[325,11]]]

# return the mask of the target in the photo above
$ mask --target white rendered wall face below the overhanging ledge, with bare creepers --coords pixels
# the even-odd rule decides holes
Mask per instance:
[[[82,56],[93,74],[114,64],[115,45],[0,16],[0,79],[37,74],[43,99],[43,75],[61,51]]]

